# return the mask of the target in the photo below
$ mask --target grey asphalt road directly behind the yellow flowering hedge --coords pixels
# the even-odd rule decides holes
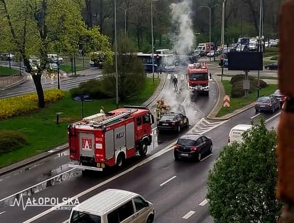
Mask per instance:
[[[101,76],[101,70],[96,68],[91,68],[83,71],[76,72],[81,75],[78,77],[61,77],[60,78],[60,88],[62,90],[69,90],[75,88],[79,83],[84,82],[89,79],[99,78]],[[43,89],[57,88],[57,78],[41,78]],[[0,90],[0,98],[8,98],[23,94],[28,94],[31,92],[36,92],[35,85],[32,79],[26,78],[26,80],[18,86],[11,87],[6,90]]]

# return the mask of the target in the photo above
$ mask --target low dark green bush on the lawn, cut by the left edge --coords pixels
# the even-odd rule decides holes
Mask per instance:
[[[0,130],[0,155],[17,150],[27,144],[28,140],[21,132]]]

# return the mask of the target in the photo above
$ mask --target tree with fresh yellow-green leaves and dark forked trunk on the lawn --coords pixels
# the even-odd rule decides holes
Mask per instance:
[[[39,107],[45,106],[41,76],[49,62],[47,54],[74,54],[82,37],[93,34],[86,29],[82,7],[81,0],[0,0],[6,27],[6,39],[0,41],[10,42],[11,48],[19,51],[25,70],[33,77]],[[97,35],[93,37],[96,38]],[[29,61],[32,54],[40,59],[37,70],[32,69]]]

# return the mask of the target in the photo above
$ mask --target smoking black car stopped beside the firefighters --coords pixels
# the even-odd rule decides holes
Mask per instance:
[[[180,132],[184,127],[189,127],[189,119],[181,113],[164,114],[157,124],[159,132],[164,130]]]

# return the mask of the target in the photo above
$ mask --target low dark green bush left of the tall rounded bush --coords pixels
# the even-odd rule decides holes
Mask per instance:
[[[88,80],[80,83],[77,88],[70,89],[69,92],[72,97],[89,94],[94,99],[110,98],[103,93],[101,83],[101,80]]]

